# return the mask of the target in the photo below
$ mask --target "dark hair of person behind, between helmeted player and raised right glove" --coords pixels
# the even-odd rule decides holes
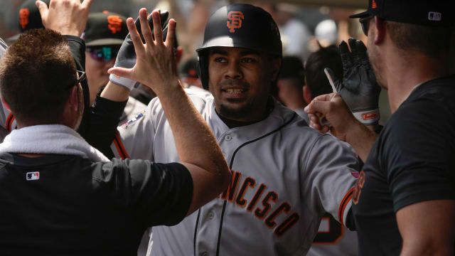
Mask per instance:
[[[338,79],[343,79],[343,63],[336,46],[321,47],[309,55],[305,64],[306,85],[311,92],[311,99],[333,92],[324,68],[330,68]]]

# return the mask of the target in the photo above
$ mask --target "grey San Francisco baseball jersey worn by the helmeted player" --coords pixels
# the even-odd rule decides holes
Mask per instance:
[[[186,91],[215,134],[232,182],[178,225],[154,227],[151,255],[305,255],[325,212],[344,223],[358,167],[348,147],[276,101],[266,119],[230,129],[211,95]],[[158,98],[119,134],[117,156],[179,161]]]

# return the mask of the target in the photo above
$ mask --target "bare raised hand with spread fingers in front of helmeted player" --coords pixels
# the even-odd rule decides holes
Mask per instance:
[[[141,34],[138,32],[134,20],[132,18],[127,19],[129,36],[137,56],[134,66],[132,68],[114,67],[109,69],[108,73],[141,82],[151,87],[157,95],[160,95],[161,92],[181,86],[173,56],[176,21],[173,19],[168,21],[166,41],[163,41],[160,13],[153,11],[150,15],[155,28],[153,33],[149,26],[146,9],[139,11]],[[141,40],[141,36],[145,43]]]

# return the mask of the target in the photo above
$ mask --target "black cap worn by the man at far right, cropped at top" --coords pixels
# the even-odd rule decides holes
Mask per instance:
[[[350,18],[378,16],[424,26],[454,26],[453,0],[369,0],[368,10]]]

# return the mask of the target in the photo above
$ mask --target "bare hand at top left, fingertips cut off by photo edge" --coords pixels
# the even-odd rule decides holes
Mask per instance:
[[[93,0],[51,0],[48,6],[36,1],[45,28],[58,31],[62,35],[81,36],[87,24]]]

